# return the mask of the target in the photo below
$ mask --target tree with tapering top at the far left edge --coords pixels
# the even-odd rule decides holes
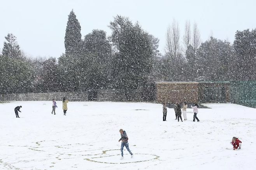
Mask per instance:
[[[1,93],[26,93],[31,91],[35,78],[31,62],[25,60],[13,34],[8,34],[0,55]]]

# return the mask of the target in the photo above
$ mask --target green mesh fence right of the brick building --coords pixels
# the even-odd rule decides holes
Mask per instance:
[[[230,81],[230,102],[256,108],[256,81]]]

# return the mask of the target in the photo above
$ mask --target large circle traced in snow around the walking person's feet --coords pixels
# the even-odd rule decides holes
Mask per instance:
[[[151,161],[153,159],[158,159],[159,156],[153,154],[134,154],[131,158],[130,154],[124,154],[124,159],[120,159],[121,155],[109,155],[109,156],[99,156],[94,158],[86,158],[87,161],[97,162],[97,163],[109,163],[109,164],[124,164],[124,163],[139,163]]]

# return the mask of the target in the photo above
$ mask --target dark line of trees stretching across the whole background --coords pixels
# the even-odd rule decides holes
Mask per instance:
[[[111,89],[133,100],[134,91],[149,92],[153,81],[255,80],[256,29],[237,31],[233,44],[211,36],[202,42],[196,23],[186,21],[181,37],[173,21],[166,50],[138,22],[117,15],[107,37],[92,30],[82,38],[74,11],[68,15],[65,53],[58,58],[28,58],[8,34],[0,54],[0,93],[89,91]],[[143,95],[142,95],[143,96]],[[146,98],[145,98],[146,100]]]

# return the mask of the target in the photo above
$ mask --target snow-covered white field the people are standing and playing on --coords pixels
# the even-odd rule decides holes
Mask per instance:
[[[22,105],[21,118],[14,107]],[[174,109],[163,122],[154,103],[57,101],[0,103],[0,170],[254,170],[256,109],[205,104],[200,122],[177,122]],[[120,160],[119,129],[126,130],[130,158]],[[242,141],[232,150],[231,138]]]

